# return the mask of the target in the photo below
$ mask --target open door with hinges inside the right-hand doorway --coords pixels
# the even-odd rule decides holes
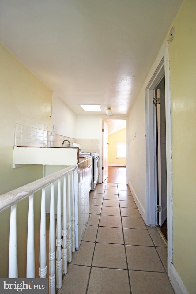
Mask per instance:
[[[159,225],[161,226],[167,218],[167,166],[166,166],[166,129],[165,129],[165,95],[159,89],[157,98],[157,145],[158,145],[158,203]]]

